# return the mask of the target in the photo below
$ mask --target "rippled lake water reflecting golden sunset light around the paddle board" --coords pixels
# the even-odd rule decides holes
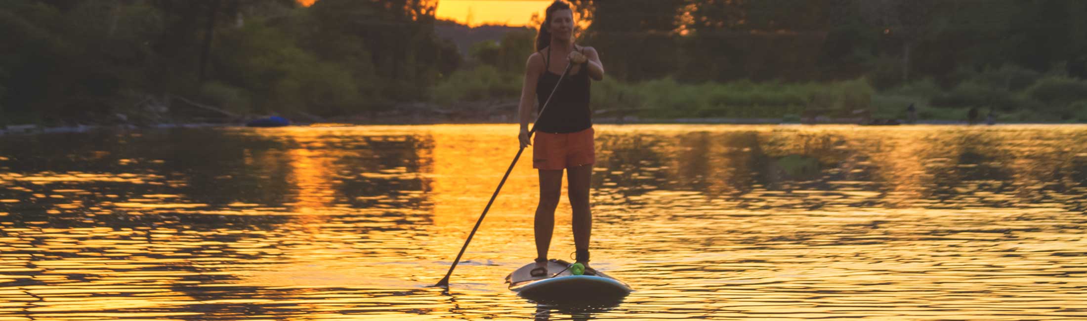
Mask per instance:
[[[0,320],[1083,320],[1087,126],[597,126],[594,267],[538,306],[514,125],[0,137]],[[573,251],[570,207],[552,257]]]

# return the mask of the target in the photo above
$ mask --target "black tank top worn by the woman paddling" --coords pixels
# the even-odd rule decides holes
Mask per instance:
[[[536,82],[537,112],[544,108],[548,96],[559,83],[560,75],[551,72],[551,47],[547,49],[544,74]],[[585,47],[579,50],[585,53]],[[540,54],[542,54],[542,50]],[[544,133],[574,133],[592,127],[589,111],[589,72],[584,66],[575,75],[567,74],[554,91],[554,98],[536,122],[536,131]]]

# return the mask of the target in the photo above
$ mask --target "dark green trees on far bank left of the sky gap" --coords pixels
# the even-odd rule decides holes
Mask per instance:
[[[434,35],[433,9],[414,0],[0,1],[0,37],[18,48],[0,52],[0,106],[8,116],[55,120],[126,112],[146,94],[239,113],[387,107],[420,99],[459,64],[455,47]]]

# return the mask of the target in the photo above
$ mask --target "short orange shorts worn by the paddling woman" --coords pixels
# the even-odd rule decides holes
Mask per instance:
[[[565,134],[536,132],[533,137],[533,168],[562,170],[595,163],[597,156],[592,136],[592,127]]]

